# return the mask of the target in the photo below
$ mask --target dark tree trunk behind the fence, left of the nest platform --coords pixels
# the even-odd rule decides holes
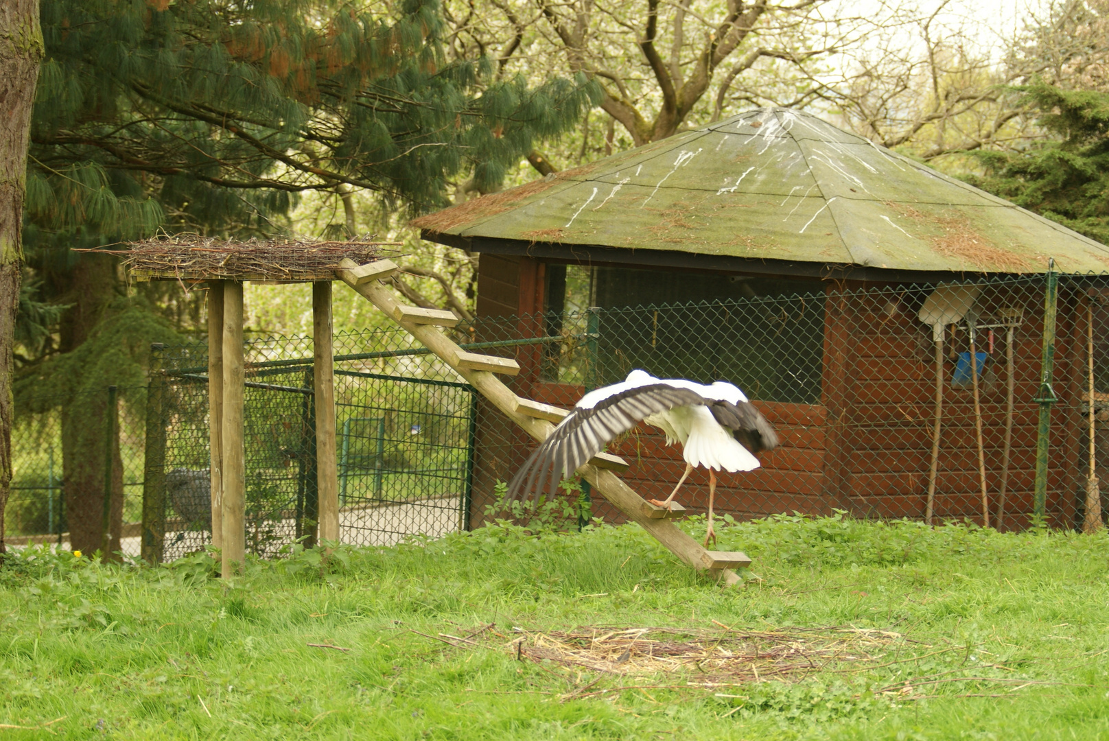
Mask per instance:
[[[59,349],[70,353],[84,343],[100,323],[115,295],[115,258],[103,254],[83,254],[69,271]],[[108,387],[78,394],[62,409],[62,481],[65,491],[65,520],[70,546],[93,552],[100,548],[104,511],[104,434]],[[123,479],[119,438],[113,441],[111,552],[119,550],[123,518]]]

